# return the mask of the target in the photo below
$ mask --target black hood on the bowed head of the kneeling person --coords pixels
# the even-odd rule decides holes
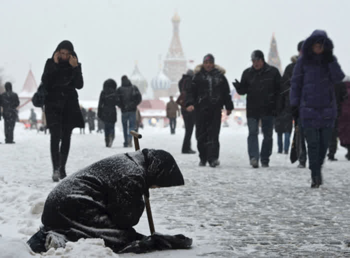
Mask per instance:
[[[173,156],[162,149],[142,149],[147,171],[148,187],[183,185],[184,180]]]

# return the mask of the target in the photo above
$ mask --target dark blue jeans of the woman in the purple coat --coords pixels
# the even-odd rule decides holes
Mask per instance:
[[[304,128],[311,177],[321,176],[321,165],[327,152],[332,128]]]

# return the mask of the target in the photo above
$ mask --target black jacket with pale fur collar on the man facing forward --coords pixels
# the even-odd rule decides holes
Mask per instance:
[[[198,65],[186,93],[185,106],[194,105],[197,112],[208,108],[221,110],[223,105],[227,110],[232,110],[233,102],[224,73],[225,70],[218,65],[209,72]]]

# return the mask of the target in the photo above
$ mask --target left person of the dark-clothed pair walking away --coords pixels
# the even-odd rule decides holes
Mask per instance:
[[[106,147],[111,147],[114,139],[114,125],[116,122],[116,108],[118,98],[116,82],[107,79],[103,82],[103,90],[99,95],[97,116],[104,123],[104,141]]]

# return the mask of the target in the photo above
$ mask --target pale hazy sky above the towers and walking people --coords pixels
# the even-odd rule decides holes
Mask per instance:
[[[166,55],[176,10],[186,59],[200,63],[213,53],[229,81],[250,66],[252,50],[267,56],[272,32],[284,69],[314,29],[327,31],[350,74],[349,0],[0,0],[2,75],[19,92],[31,65],[39,83],[46,59],[68,39],[82,63],[80,99],[97,99],[107,78],[119,86],[135,60],[149,81],[158,55]]]

